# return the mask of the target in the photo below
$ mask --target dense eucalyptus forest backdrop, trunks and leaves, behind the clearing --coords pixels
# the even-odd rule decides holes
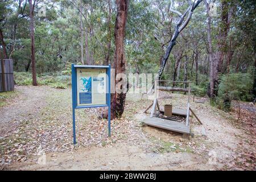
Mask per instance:
[[[157,73],[175,33],[179,13],[185,12],[188,2],[196,1],[127,2],[123,41],[126,71]],[[114,64],[117,11],[113,0],[1,0],[1,55],[14,60],[15,72],[29,75],[33,72],[33,35],[34,73],[39,76],[67,75],[71,63]],[[241,86],[246,88],[242,91],[246,96],[236,99],[252,101],[255,1],[205,0],[191,13],[189,23],[175,41],[162,79],[192,81],[197,94],[213,98],[218,96],[219,87],[225,90],[230,86],[226,83],[229,78],[234,82],[237,78],[240,84],[246,84]],[[241,77],[247,80],[241,81]]]

